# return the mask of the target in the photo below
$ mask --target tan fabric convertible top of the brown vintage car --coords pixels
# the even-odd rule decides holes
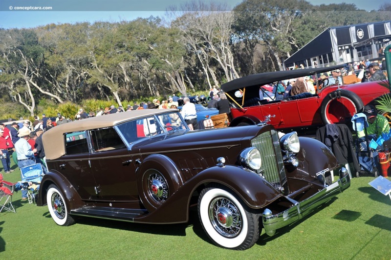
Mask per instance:
[[[138,118],[164,114],[167,112],[177,112],[177,109],[140,109],[129,112],[103,115],[100,117],[77,120],[61,125],[57,125],[43,133],[42,141],[46,159],[54,160],[65,155],[64,134],[77,131],[85,131],[103,127],[110,127],[116,124],[134,120]]]

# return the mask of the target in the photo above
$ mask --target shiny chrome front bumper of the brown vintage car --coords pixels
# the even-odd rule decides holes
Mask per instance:
[[[331,197],[334,197],[336,194],[346,190],[349,186],[350,177],[349,175],[345,175],[333,184],[303,201],[298,202],[286,197],[287,200],[292,201],[293,206],[281,213],[272,215],[271,210],[265,209],[262,213],[262,220],[266,234],[273,236],[277,229],[300,220],[305,215],[311,213],[319,205],[325,203],[327,200],[330,200]]]

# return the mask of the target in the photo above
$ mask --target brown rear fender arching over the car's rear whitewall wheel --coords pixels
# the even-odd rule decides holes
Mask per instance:
[[[38,193],[37,206],[43,206],[47,203],[46,191],[50,184],[55,184],[66,197],[68,209],[78,208],[83,204],[82,199],[76,192],[72,184],[66,178],[57,171],[50,171],[43,176],[41,181],[40,190]]]

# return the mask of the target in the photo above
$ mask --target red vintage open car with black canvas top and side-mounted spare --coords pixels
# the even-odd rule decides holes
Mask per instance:
[[[313,134],[327,123],[350,123],[351,117],[374,104],[379,97],[390,94],[388,80],[327,85],[328,79],[318,80],[320,74],[340,69],[343,65],[267,72],[249,75],[221,85],[231,102],[233,120],[231,126],[257,124],[270,117],[270,124],[282,132],[297,131],[303,135]],[[260,86],[276,85],[280,80],[310,76],[315,80],[316,94],[302,93],[282,100],[260,100]]]

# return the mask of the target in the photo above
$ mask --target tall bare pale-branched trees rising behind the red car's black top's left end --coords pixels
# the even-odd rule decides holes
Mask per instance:
[[[209,87],[219,84],[220,71],[226,81],[239,77],[231,46],[234,16],[226,12],[226,5],[191,2],[184,9],[190,12],[181,13],[172,26],[181,31],[181,41],[198,59]]]

